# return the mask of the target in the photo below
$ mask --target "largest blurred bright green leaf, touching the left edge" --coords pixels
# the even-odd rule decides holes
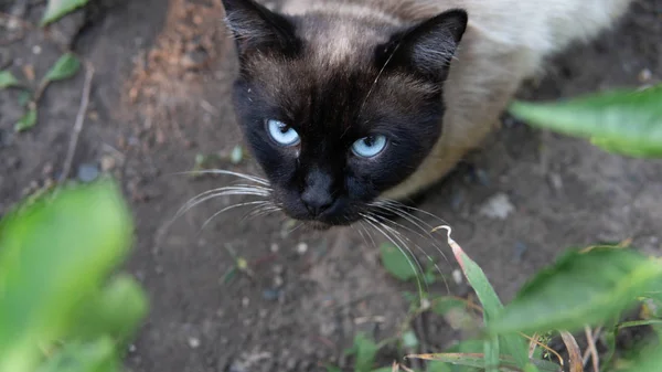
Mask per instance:
[[[132,220],[110,181],[57,190],[0,222],[0,372],[29,371],[126,257]]]

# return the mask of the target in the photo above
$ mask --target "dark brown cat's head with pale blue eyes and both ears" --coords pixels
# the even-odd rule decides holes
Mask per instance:
[[[235,110],[274,202],[318,226],[361,219],[441,135],[441,86],[467,14],[404,26],[224,4],[239,56]]]

